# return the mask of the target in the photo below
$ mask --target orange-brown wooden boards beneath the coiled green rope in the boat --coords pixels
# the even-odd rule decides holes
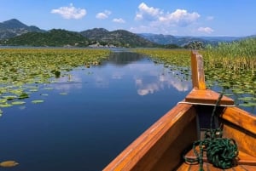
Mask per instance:
[[[236,158],[236,166],[229,169],[222,169],[222,168],[216,168],[211,163],[207,161],[206,152],[204,152],[203,155],[203,169],[204,170],[211,170],[211,171],[217,171],[217,170],[232,170],[232,171],[255,171],[256,170],[256,157],[253,157],[251,155],[248,155],[247,153],[243,151],[239,151],[238,157]],[[191,149],[185,157],[188,158],[196,158],[193,149]],[[197,171],[199,170],[200,166],[199,163],[195,164],[189,164],[186,162],[183,162],[183,164],[177,168],[177,171]]]

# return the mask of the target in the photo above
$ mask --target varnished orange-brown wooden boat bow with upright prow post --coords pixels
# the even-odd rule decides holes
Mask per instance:
[[[186,170],[256,170],[256,117],[234,105],[234,100],[206,88],[201,54],[191,53],[193,89],[156,123],[126,147],[104,171],[186,171]],[[218,105],[218,106],[217,106]],[[204,140],[205,130],[211,125],[214,112],[214,127],[221,128],[222,139],[235,140],[238,152],[230,168],[213,166],[206,151],[198,162],[191,147]],[[206,148],[203,146],[203,148]],[[195,159],[188,163],[184,158]]]

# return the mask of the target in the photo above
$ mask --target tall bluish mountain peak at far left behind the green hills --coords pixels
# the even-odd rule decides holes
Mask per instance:
[[[0,40],[20,36],[32,31],[44,32],[44,30],[39,29],[37,26],[26,26],[16,19],[6,20],[0,23]]]

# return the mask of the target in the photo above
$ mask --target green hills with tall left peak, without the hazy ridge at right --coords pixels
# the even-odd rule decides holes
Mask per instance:
[[[52,29],[44,31],[36,26],[26,26],[19,20],[7,20],[0,25],[0,45],[15,46],[79,46],[79,47],[156,47],[137,34],[125,30],[108,31],[95,28],[87,31]]]

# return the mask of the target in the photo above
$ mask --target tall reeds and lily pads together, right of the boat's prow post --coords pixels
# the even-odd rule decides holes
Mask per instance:
[[[218,47],[201,51],[205,62],[207,80],[215,80],[221,87],[230,88],[234,94],[256,96],[256,38],[234,43],[220,43]],[[208,86],[211,88],[211,86]],[[255,99],[241,106],[254,106]]]

